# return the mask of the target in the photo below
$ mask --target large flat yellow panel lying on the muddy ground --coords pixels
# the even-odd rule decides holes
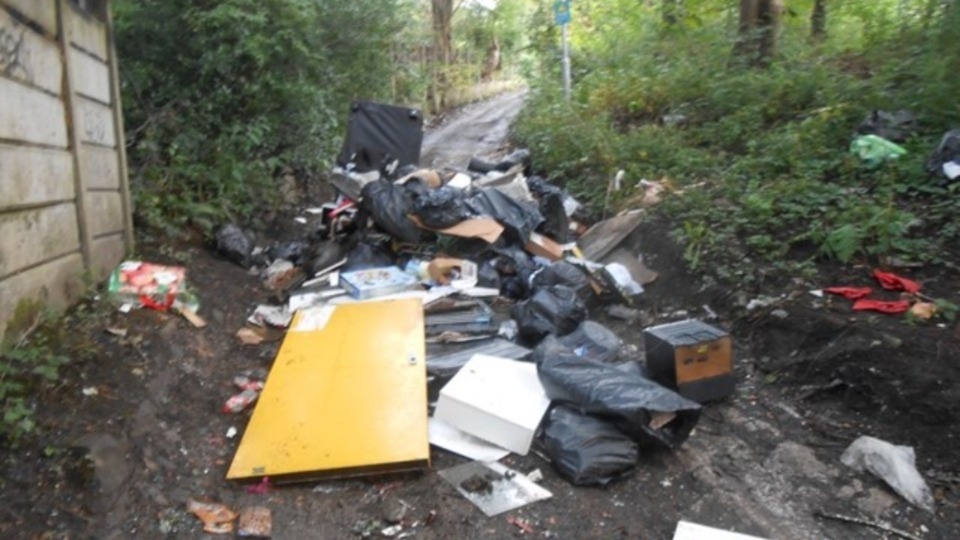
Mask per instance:
[[[428,466],[424,357],[419,299],[341,305],[320,330],[291,330],[227,478]]]

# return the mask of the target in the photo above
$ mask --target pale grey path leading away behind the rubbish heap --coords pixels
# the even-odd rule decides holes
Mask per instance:
[[[524,97],[525,90],[509,92],[451,114],[424,136],[420,164],[434,168],[466,167],[471,157],[496,151],[506,142]]]

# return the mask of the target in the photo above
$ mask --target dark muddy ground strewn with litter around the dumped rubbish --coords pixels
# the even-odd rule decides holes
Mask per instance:
[[[502,110],[504,103],[472,110]],[[476,133],[467,129],[475,121],[469,111],[451,118],[441,128],[443,140]],[[431,147],[425,156],[440,163],[443,154]],[[461,155],[455,160],[464,162]],[[144,259],[187,266],[209,325],[197,329],[146,310],[124,315],[104,300],[88,301],[91,314],[74,317],[70,330],[96,354],[74,363],[63,384],[44,396],[39,440],[6,451],[0,537],[203,538],[184,510],[195,497],[233,508],[268,506],[278,539],[358,538],[357,530],[385,527],[382,520],[404,505],[406,523],[419,522],[408,529],[415,538],[669,539],[680,519],[771,539],[893,538],[818,518],[817,511],[882,519],[925,539],[960,538],[960,328],[854,314],[845,300],[808,293],[870,284],[867,268],[824,266],[816,283],[782,279],[762,291],[717,287],[685,271],[671,228],[648,220],[628,241],[661,275],[647,287],[641,319],[609,319],[604,306],[592,318],[642,356],[645,325],[705,317],[707,305],[719,316],[715,324],[733,335],[738,386],[733,397],[705,407],[679,451],[643,455],[626,481],[576,488],[536,453],[510,456],[504,460],[510,467],[541,469],[553,498],[487,518],[437,475],[466,460],[433,449],[432,466],[422,474],[248,493],[224,475],[240,439],[228,439],[227,430],[242,433],[250,413],[226,415],[220,407],[233,392],[234,375],[269,368],[276,354],[279,343],[243,346],[234,336],[269,294],[256,276],[203,245],[144,243],[138,253]],[[276,234],[295,233],[281,229]],[[282,238],[262,238],[276,239]],[[929,294],[956,301],[955,274],[905,273]],[[776,300],[744,307],[762,296]],[[106,333],[108,326],[126,328],[127,337]],[[84,395],[85,388],[97,395]],[[863,434],[915,448],[936,513],[840,464],[843,449]],[[436,517],[427,525],[431,512]],[[508,516],[525,520],[532,532]]]

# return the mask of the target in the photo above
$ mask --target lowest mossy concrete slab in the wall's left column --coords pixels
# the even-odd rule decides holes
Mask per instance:
[[[61,310],[83,293],[83,259],[74,253],[0,281],[0,336],[21,300]]]

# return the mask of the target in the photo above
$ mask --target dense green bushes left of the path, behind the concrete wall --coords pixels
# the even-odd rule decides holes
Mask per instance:
[[[331,164],[355,99],[422,107],[436,73],[445,91],[511,76],[525,4],[458,3],[441,62],[421,0],[115,0],[140,230],[274,207],[278,176]]]

